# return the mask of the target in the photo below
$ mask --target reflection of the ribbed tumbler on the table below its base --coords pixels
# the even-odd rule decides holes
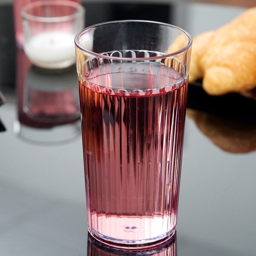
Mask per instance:
[[[143,248],[143,249],[116,249],[109,247],[106,244],[94,239],[88,233],[88,242],[87,242],[87,256],[118,256],[118,255],[127,255],[127,256],[139,256],[139,255],[149,255],[149,256],[177,256],[177,246],[176,246],[176,234],[172,236],[171,239],[166,241],[163,244],[158,246]]]

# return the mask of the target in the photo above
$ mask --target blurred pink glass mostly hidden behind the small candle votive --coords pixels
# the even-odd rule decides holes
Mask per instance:
[[[27,3],[32,3],[37,0],[14,0],[13,1],[13,17],[14,17],[14,24],[15,24],[15,39],[17,47],[23,48],[24,42],[24,35],[23,35],[23,28],[22,28],[22,21],[20,16],[20,11]],[[81,3],[81,0],[71,0],[77,3]]]

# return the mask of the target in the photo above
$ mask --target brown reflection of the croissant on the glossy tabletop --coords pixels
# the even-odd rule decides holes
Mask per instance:
[[[187,109],[199,130],[215,145],[230,153],[256,150],[256,125],[245,125],[207,113]]]

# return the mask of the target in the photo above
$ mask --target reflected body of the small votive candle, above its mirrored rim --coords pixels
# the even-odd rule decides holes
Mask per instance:
[[[32,66],[27,74],[25,93],[23,111],[35,121],[60,125],[80,116],[75,67],[44,70]]]

